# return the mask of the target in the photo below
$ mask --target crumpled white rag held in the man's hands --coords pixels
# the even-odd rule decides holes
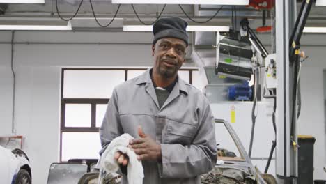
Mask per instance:
[[[137,160],[137,155],[132,151],[132,149],[128,148],[130,139],[134,139],[134,137],[129,134],[123,134],[116,139],[113,139],[111,143],[107,146],[104,153],[102,153],[100,159],[100,166],[107,171],[107,173],[113,173],[118,171],[120,168],[116,159],[114,159],[114,154],[117,151],[121,151],[125,153],[129,157],[128,162],[128,183],[133,184],[142,184],[143,183],[143,165],[141,161]]]

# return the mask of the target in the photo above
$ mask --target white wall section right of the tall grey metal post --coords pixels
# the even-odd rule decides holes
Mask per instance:
[[[319,40],[325,43],[326,36]],[[314,146],[314,179],[326,180],[323,167],[326,165],[326,136],[324,114],[324,79],[326,69],[326,47],[303,47],[309,55],[303,63],[301,74],[302,111],[298,122],[300,135],[312,135],[316,138]]]

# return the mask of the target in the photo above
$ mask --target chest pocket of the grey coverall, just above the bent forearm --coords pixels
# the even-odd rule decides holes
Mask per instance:
[[[196,130],[196,125],[169,120],[162,137],[162,142],[166,144],[192,144]]]

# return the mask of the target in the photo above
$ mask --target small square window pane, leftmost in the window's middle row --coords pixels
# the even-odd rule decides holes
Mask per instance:
[[[66,104],[65,127],[91,127],[91,105]]]

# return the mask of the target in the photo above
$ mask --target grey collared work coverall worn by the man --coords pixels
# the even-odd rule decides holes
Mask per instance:
[[[149,69],[116,86],[100,128],[101,152],[123,133],[139,138],[139,125],[162,147],[162,162],[142,162],[143,184],[199,184],[199,175],[215,166],[217,147],[210,105],[201,91],[180,77],[161,108]],[[124,174],[122,183],[128,183]]]

